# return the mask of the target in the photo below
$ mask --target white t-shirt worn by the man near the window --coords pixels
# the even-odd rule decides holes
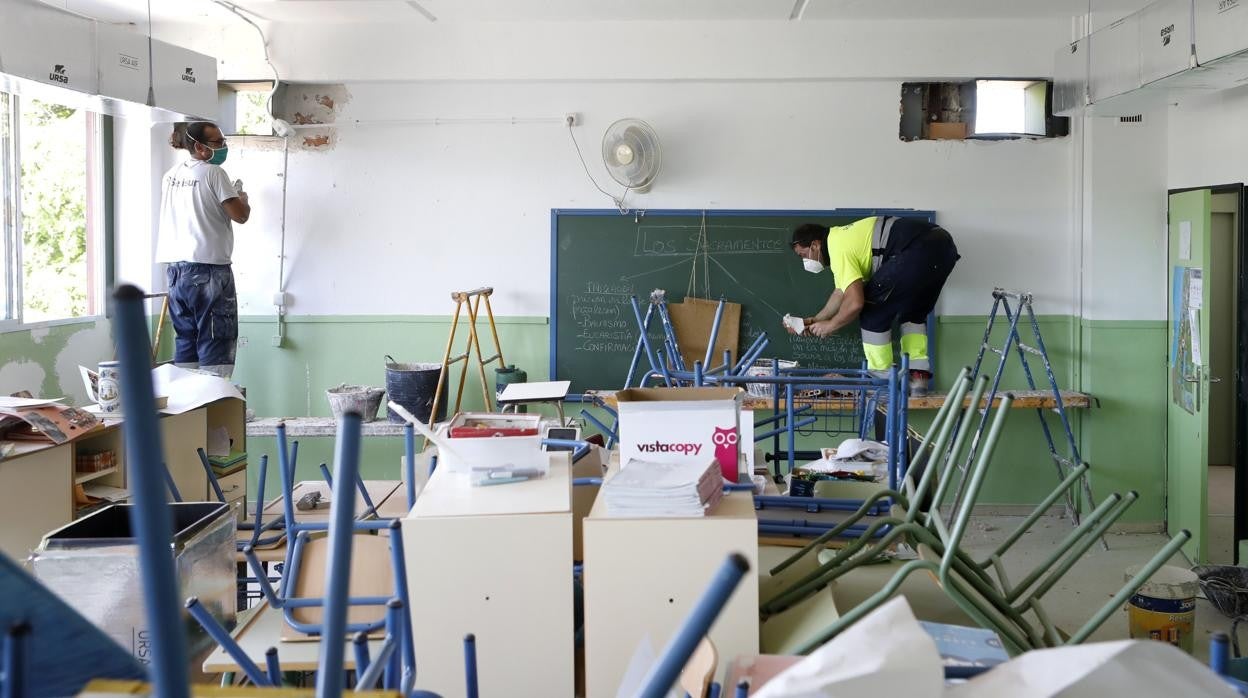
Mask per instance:
[[[221,204],[237,196],[226,171],[202,160],[191,157],[165,172],[156,261],[228,265],[233,224]]]

